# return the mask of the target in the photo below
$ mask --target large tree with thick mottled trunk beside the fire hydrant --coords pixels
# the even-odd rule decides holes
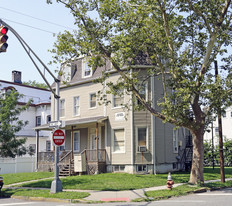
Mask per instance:
[[[47,1],[52,3],[51,0]],[[193,136],[190,183],[204,182],[203,135],[212,113],[231,104],[232,6],[230,0],[57,0],[75,18],[77,30],[65,31],[54,44],[54,62],[80,55],[94,68],[111,61],[124,87],[152,115]],[[148,75],[159,76],[164,96],[161,111],[146,102],[130,70],[136,57],[149,59]],[[212,62],[225,70],[215,79]],[[131,60],[130,62],[128,60]],[[126,67],[125,67],[126,65]],[[147,78],[147,77],[146,77]],[[223,103],[223,104],[222,104]]]

